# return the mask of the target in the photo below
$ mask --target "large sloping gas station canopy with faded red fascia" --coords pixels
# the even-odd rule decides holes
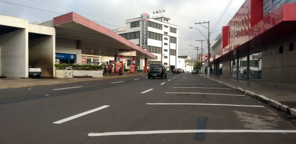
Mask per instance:
[[[136,51],[138,59],[157,59],[126,38],[75,12],[53,18],[53,26],[56,37],[77,40],[82,54],[114,57],[119,56],[120,50],[131,50]]]

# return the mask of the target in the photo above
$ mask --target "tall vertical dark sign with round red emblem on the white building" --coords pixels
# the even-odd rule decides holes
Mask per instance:
[[[147,40],[148,40],[148,22],[149,14],[143,13],[140,17],[142,19],[142,48],[147,49]]]

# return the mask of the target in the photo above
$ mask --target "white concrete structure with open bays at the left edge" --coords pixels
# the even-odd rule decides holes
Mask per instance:
[[[28,66],[53,75],[55,29],[0,15],[0,76],[28,77]]]

